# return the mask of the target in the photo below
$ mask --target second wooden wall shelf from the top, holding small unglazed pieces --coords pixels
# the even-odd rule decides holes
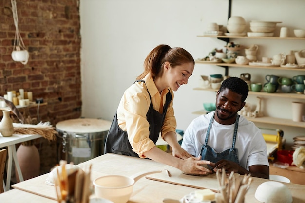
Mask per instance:
[[[249,66],[239,65],[236,63],[209,63],[207,61],[196,60],[196,63],[208,64],[214,66],[227,66],[227,67],[238,67],[238,68],[260,68],[260,69],[273,69],[273,70],[285,70],[285,71],[305,71],[305,68],[283,68],[283,67],[272,67],[272,66]]]

